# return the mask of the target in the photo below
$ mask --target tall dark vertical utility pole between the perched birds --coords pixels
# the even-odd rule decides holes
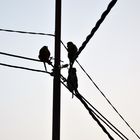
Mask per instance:
[[[52,140],[60,140],[60,104],[61,104],[61,86],[60,86],[60,40],[61,40],[61,0],[55,3],[55,62],[54,62],[54,80],[53,80],[53,125]]]

